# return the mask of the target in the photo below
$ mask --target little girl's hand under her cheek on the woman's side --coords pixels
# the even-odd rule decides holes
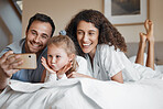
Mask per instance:
[[[68,63],[67,65],[65,65],[62,69],[59,69],[56,74],[57,74],[57,77],[61,79],[63,77],[63,75],[72,68],[72,62]]]

